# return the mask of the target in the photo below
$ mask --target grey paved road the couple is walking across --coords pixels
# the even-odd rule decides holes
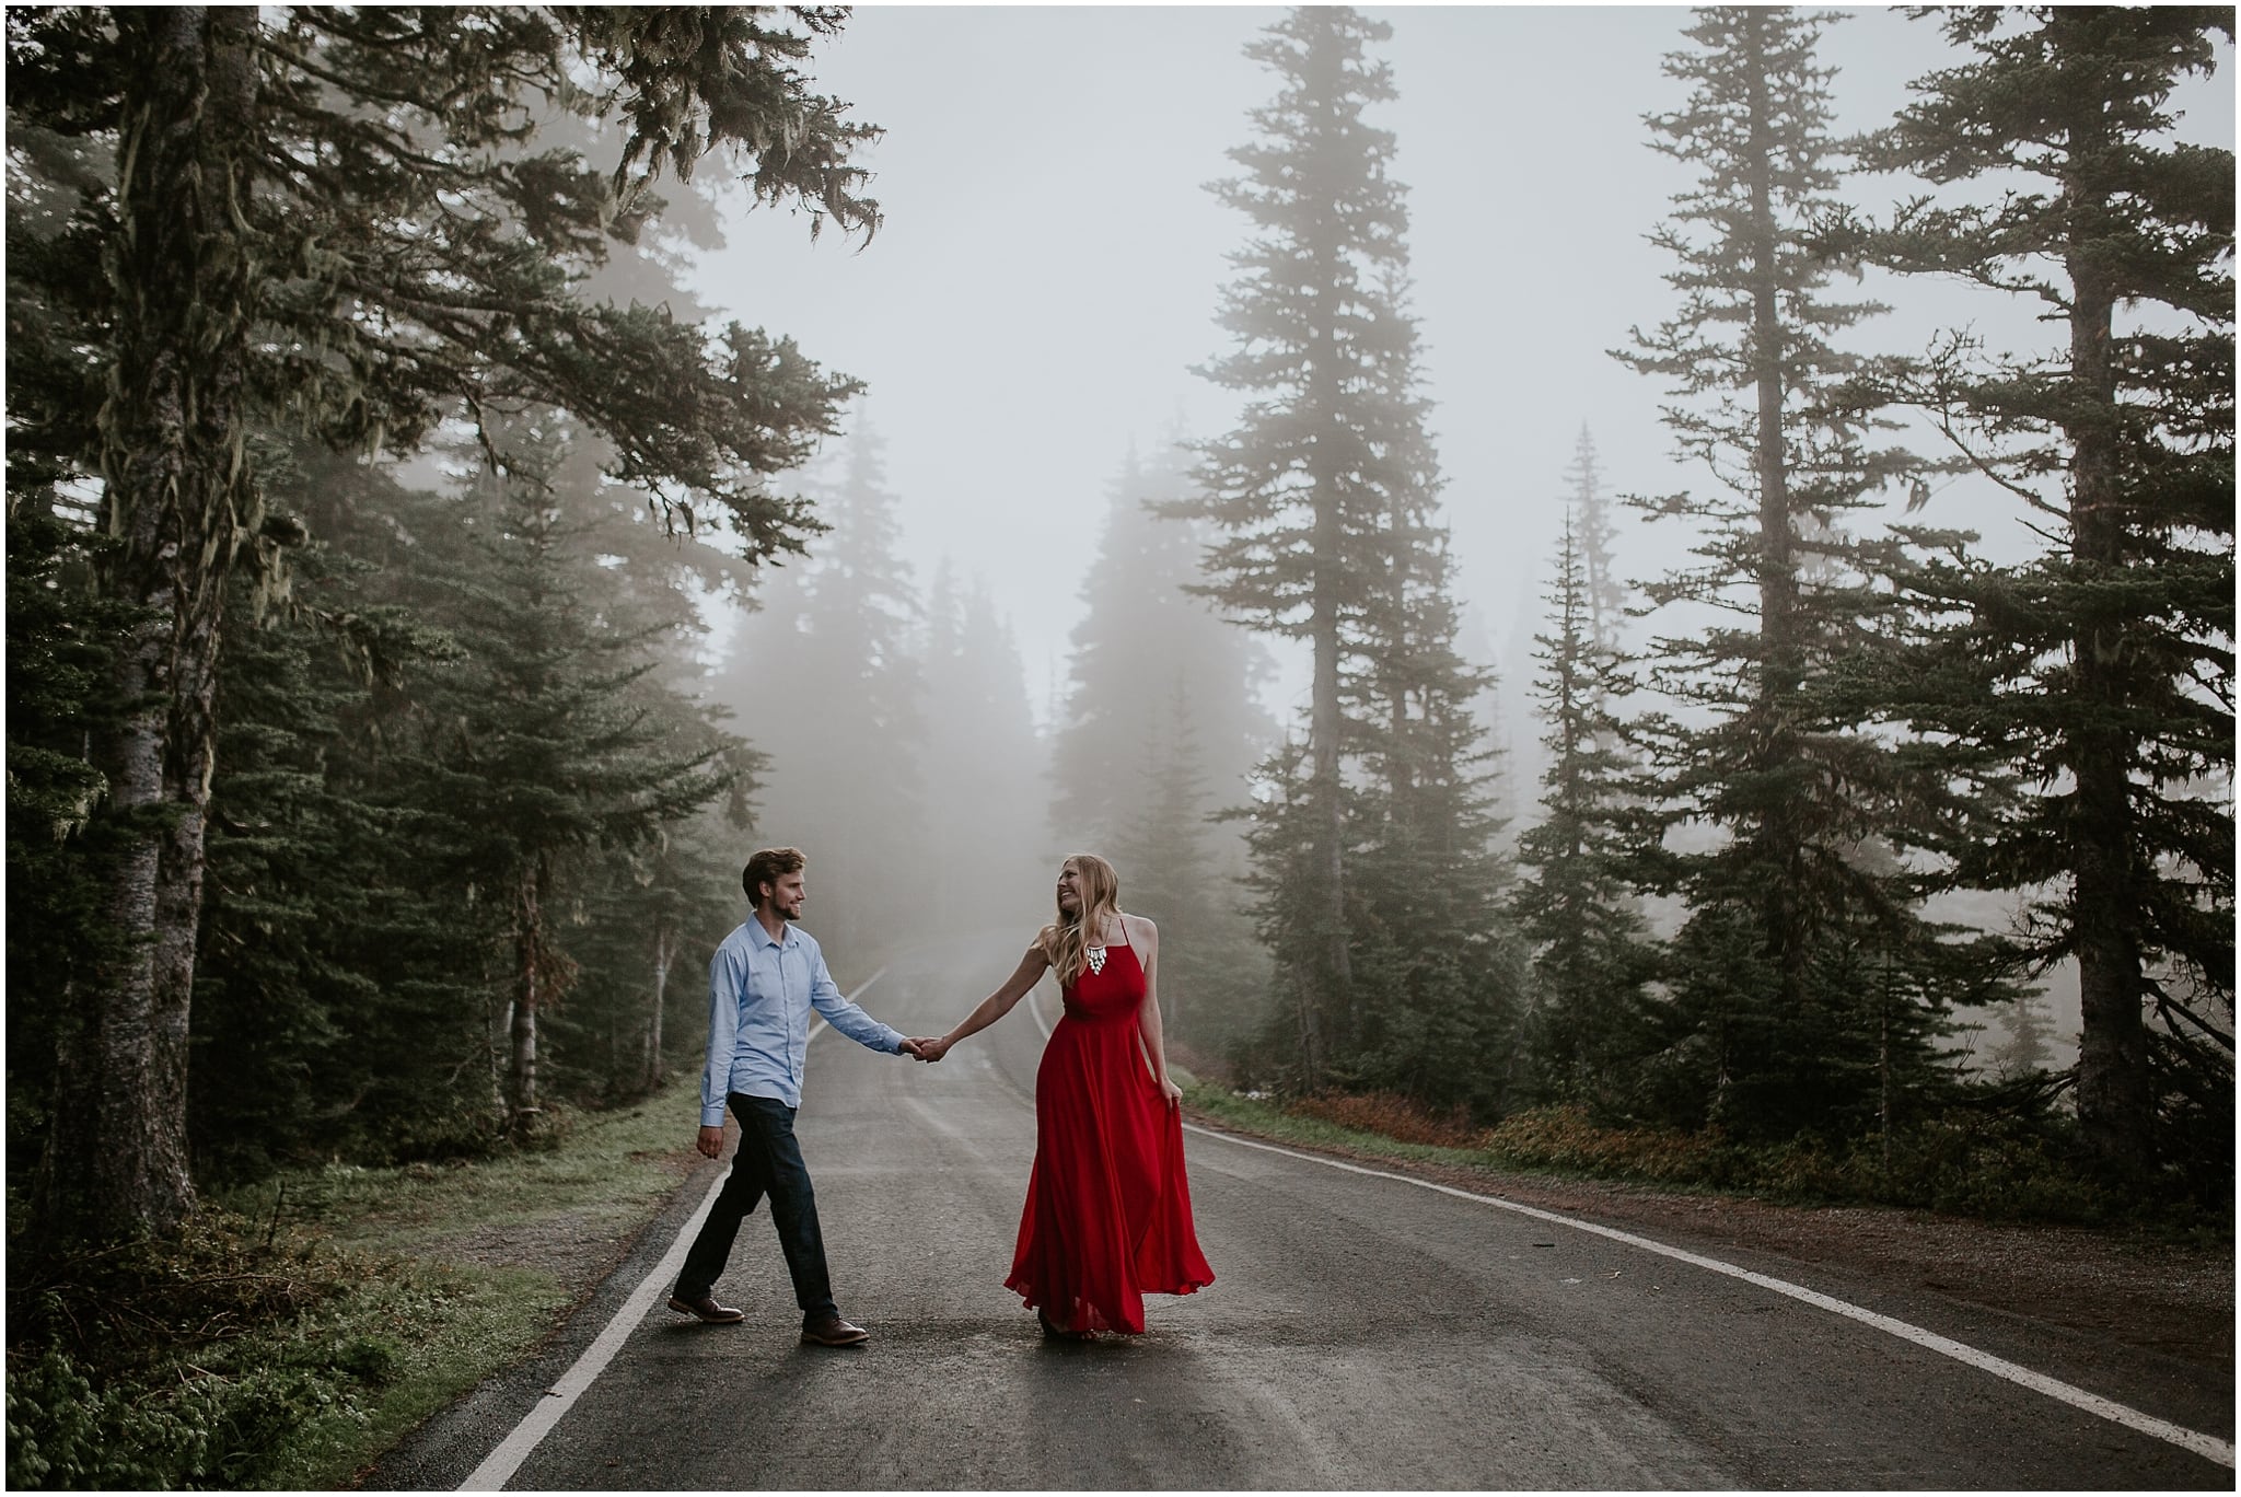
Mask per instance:
[[[1020,939],[899,964],[865,1006],[934,1033]],[[1049,1002],[1049,993],[1038,993]],[[549,1488],[2232,1488],[2167,1441],[1640,1248],[1192,1132],[1217,1284],[1136,1340],[1047,1345],[1002,1286],[1033,1156],[1042,1031],[1022,1008],[939,1067],[834,1033],[800,1121],[856,1351],[796,1345],[757,1212],[726,1302],[654,1309],[513,1475]],[[679,1118],[688,1132],[692,1118]],[[455,1486],[668,1248],[648,1233],[540,1363],[374,1472]],[[1708,1244],[1679,1246],[1735,1259]],[[1743,1266],[2232,1441],[2232,1380],[2028,1320]]]

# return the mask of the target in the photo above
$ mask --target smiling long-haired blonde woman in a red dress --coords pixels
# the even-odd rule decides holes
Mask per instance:
[[[1044,1336],[1143,1336],[1143,1295],[1215,1282],[1190,1226],[1183,1091],[1159,1029],[1159,928],[1120,912],[1112,863],[1073,854],[1058,872],[1058,921],[964,1024],[919,1040],[928,1060],[988,1029],[1058,973],[1067,1013],[1035,1069],[1035,1172],[1006,1289]],[[1150,1060],[1150,1069],[1145,1062]]]

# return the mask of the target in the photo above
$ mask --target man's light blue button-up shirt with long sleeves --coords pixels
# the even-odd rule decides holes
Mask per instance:
[[[724,1098],[769,1096],[802,1105],[809,1011],[856,1044],[901,1053],[903,1033],[840,997],[825,952],[800,926],[773,941],[760,919],[724,937],[708,961],[708,1067],[701,1071],[701,1127],[724,1127]]]

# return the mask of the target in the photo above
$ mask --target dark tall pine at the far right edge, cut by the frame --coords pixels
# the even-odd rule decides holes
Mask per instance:
[[[2077,1121],[2140,1179],[2158,1105],[2192,1109],[2203,1087],[2232,1105],[2234,159],[2172,141],[2167,110],[2180,76],[2212,72],[2232,9],[1941,27],[1968,61],[1918,81],[1867,159],[1997,202],[1923,197],[1833,242],[2026,296],[2066,343],[1986,356],[1954,336],[1894,388],[2048,540],[1994,567],[1914,531],[1947,558],[1896,569],[1932,627],[1891,677],[1894,717],[1974,748],[1979,775],[2019,771],[2017,796],[1956,822],[1954,881],[2051,890],[2024,957],[2077,961]],[[2178,1129],[2165,1145],[2194,1147]]]

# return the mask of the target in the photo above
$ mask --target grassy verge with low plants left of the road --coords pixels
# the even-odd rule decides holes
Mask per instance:
[[[697,1163],[695,1112],[684,1076],[562,1118],[536,1152],[329,1165],[217,1197],[193,1244],[132,1268],[132,1354],[87,1324],[114,1264],[103,1293],[36,1291],[34,1320],[67,1329],[38,1345],[11,1327],[9,1486],[352,1486],[598,1284]],[[242,1282],[278,1291],[213,1313]]]

